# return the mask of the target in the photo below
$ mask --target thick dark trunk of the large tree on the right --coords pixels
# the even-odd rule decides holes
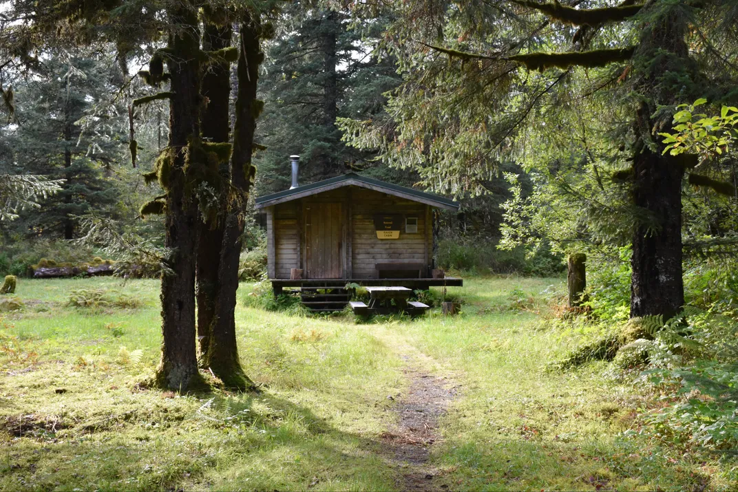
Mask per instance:
[[[661,7],[654,7],[661,8]],[[644,26],[636,53],[636,87],[646,96],[635,118],[633,201],[642,217],[632,243],[630,316],[674,316],[684,304],[682,280],[683,169],[655,142],[661,128],[669,128],[671,115],[655,119],[657,108],[677,103],[683,80],[695,80],[689,60],[686,19],[676,8],[666,8]],[[694,89],[693,89],[694,90]]]

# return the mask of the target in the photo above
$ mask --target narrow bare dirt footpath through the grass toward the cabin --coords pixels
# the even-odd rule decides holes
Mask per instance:
[[[382,433],[382,450],[399,468],[401,491],[443,491],[447,485],[438,480],[438,469],[430,463],[430,450],[441,440],[438,420],[446,413],[459,386],[452,373],[435,359],[421,353],[396,333],[374,325],[374,336],[396,350],[405,361],[402,369],[407,390],[393,398],[393,423]]]

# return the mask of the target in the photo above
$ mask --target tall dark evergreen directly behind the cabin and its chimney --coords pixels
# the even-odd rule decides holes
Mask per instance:
[[[372,154],[347,147],[337,119],[383,119],[383,94],[399,84],[393,57],[377,58],[385,18],[362,29],[345,13],[292,4],[285,19],[269,44],[260,88],[266,104],[257,141],[266,150],[257,162],[259,194],[289,188],[292,154],[300,156],[300,184],[367,167]]]

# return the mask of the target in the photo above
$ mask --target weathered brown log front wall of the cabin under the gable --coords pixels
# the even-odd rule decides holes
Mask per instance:
[[[377,263],[421,263],[426,266],[421,276],[430,275],[432,208],[405,198],[351,186],[266,208],[269,278],[289,279],[292,268],[302,268],[303,278],[314,278],[307,268],[311,255],[328,254],[328,249],[315,251],[315,244],[306,240],[311,228],[315,227],[308,219],[311,204],[340,204],[341,230],[334,234],[339,244],[329,248],[329,254],[340,257],[339,278],[376,278]],[[331,213],[335,214],[336,209],[331,209]],[[378,239],[374,215],[390,213],[403,215],[400,237]],[[418,219],[418,232],[405,232],[404,219],[407,217]]]

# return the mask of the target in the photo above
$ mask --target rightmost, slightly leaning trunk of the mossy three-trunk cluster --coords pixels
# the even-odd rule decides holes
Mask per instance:
[[[256,88],[259,64],[263,54],[259,49],[258,19],[251,18],[241,24],[239,40],[241,54],[238,57],[238,98],[233,130],[231,156],[232,187],[235,197],[229,203],[226,218],[221,260],[218,268],[218,301],[215,305],[215,322],[210,333],[210,344],[204,357],[204,366],[210,367],[227,387],[250,389],[252,381],[244,374],[238,359],[235,338],[235,304],[238,289],[238,258],[241,254],[241,236],[244,233],[244,214],[249,196],[254,132],[256,129]]]

